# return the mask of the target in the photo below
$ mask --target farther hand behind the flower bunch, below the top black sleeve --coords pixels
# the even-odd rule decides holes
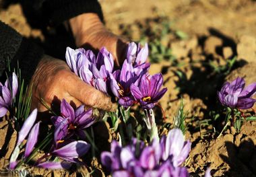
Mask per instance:
[[[103,46],[113,55],[115,65],[125,60],[128,40],[108,31],[96,13],[83,13],[69,20],[78,47],[90,46],[100,50]]]

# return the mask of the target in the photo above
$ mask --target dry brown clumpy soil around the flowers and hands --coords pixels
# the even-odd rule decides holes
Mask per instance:
[[[160,101],[166,122],[173,122],[181,97],[185,102],[186,137],[192,141],[185,165],[191,176],[203,176],[207,167],[212,169],[212,176],[256,176],[256,122],[246,121],[239,133],[228,127],[217,138],[223,128],[224,114],[220,114],[217,122],[213,122],[211,116],[211,111],[220,108],[216,92],[224,81],[232,81],[238,76],[245,78],[246,83],[256,81],[256,1],[102,0],[100,3],[106,26],[119,35],[125,34],[123,29],[127,27],[133,32],[127,36],[131,40],[139,40],[139,29],[135,24],[154,22],[162,16],[172,22],[171,28],[182,30],[189,36],[186,40],[168,38],[168,46],[180,65],[170,61],[154,63],[150,73],[162,72],[164,87],[168,88]],[[37,42],[45,40],[40,30],[30,27],[19,4],[2,9],[0,20]],[[218,73],[210,65],[222,67],[234,56],[237,56],[237,62],[229,75]],[[96,130],[102,130],[103,126],[107,131],[108,125],[97,126],[101,127],[95,127]],[[96,134],[107,143],[111,139],[107,132]],[[0,122],[0,133],[5,135],[0,137],[1,167],[4,167],[16,133],[6,120]],[[100,167],[96,161],[92,164]],[[79,173],[88,172],[83,170],[79,168]],[[33,172],[41,176],[78,175],[39,169],[33,169]],[[96,174],[104,176],[100,168]]]

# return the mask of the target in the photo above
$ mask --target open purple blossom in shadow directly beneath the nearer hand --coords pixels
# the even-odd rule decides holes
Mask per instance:
[[[68,135],[68,137],[77,135],[81,139],[85,139],[84,129],[90,127],[95,121],[92,116],[92,109],[85,111],[84,105],[82,105],[74,110],[64,99],[61,102],[61,115],[51,118],[55,127],[59,127],[60,122],[64,125],[62,131],[65,133],[62,134],[63,137],[60,139],[63,139],[65,135]]]

